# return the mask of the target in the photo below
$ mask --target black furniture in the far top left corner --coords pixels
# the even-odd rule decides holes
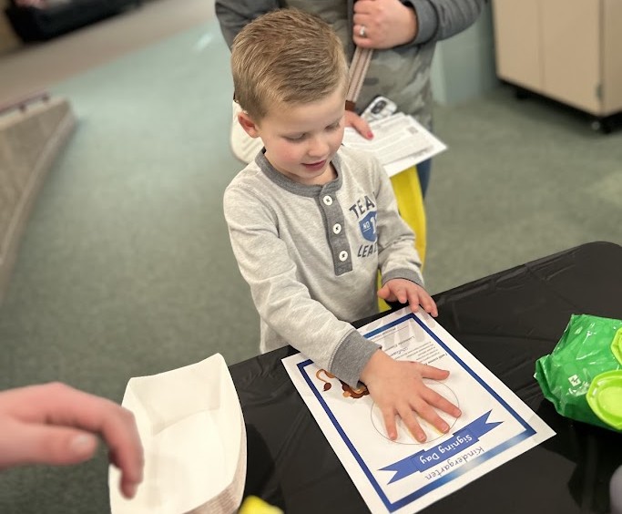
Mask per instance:
[[[46,7],[16,5],[6,7],[5,14],[15,34],[24,42],[41,41],[65,34],[111,15],[140,0],[66,0],[51,2]]]

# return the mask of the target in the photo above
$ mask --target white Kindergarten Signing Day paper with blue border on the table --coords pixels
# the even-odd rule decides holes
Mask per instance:
[[[420,420],[427,441],[401,421],[396,441],[385,436],[372,397],[353,390],[302,354],[283,359],[291,380],[372,512],[418,512],[484,473],[535,447],[555,432],[428,314],[408,309],[360,329],[393,358],[450,371],[426,381],[454,404],[458,419],[441,434]]]

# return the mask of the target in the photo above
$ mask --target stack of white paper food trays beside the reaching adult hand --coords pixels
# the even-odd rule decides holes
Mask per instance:
[[[235,512],[246,477],[246,430],[222,355],[159,375],[132,378],[123,406],[136,416],[145,449],[137,496],[118,491],[110,466],[113,514]]]

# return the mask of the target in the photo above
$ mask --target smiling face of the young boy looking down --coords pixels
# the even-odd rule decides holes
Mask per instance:
[[[310,104],[278,104],[255,123],[240,114],[240,124],[261,138],[266,159],[280,173],[301,184],[325,184],[334,178],[332,156],[342,144],[345,94],[342,87]]]

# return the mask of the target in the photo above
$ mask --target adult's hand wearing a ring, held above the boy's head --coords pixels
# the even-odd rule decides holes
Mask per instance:
[[[358,0],[354,2],[353,23],[354,43],[362,48],[405,45],[413,41],[419,28],[414,10],[400,0]]]

